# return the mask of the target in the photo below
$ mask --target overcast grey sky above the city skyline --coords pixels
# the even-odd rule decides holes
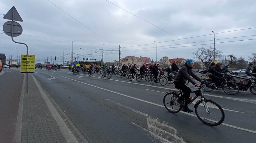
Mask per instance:
[[[80,48],[87,48],[84,58],[101,60],[105,44],[104,62],[118,60],[119,45],[121,58],[144,56],[155,61],[156,56],[157,60],[169,56],[197,61],[192,53],[199,47],[213,47],[212,31],[215,47],[223,55],[233,53],[248,60],[256,53],[255,0],[1,0],[0,14],[13,6],[23,19],[17,21],[23,33],[14,40],[26,43],[36,62],[56,56],[62,64],[64,50],[64,62],[68,57],[71,61],[72,41],[79,60],[83,57]],[[0,25],[7,21],[0,18]],[[13,59],[17,49],[18,56],[26,54],[26,46],[14,43],[2,26],[0,53]],[[200,37],[190,38],[195,36]]]

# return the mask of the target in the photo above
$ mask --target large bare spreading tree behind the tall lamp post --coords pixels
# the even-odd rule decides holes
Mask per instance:
[[[205,47],[200,47],[197,49],[196,52],[193,52],[194,57],[199,59],[200,61],[203,62],[206,67],[209,67],[209,65],[214,61],[213,60],[213,48],[210,46],[209,48]],[[221,53],[222,50],[217,50],[215,48],[215,58],[216,59],[221,59]]]

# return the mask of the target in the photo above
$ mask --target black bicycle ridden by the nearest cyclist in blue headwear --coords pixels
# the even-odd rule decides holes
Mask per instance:
[[[203,92],[201,92],[202,87],[203,84],[198,87],[198,90],[192,92],[195,93],[196,96],[194,99],[187,101],[187,106],[189,106],[195,99],[197,99],[198,96],[200,96],[201,99],[198,100],[194,105],[197,118],[207,125],[218,126],[224,121],[225,113],[218,103],[204,97]],[[163,97],[163,104],[169,112],[178,113],[180,110],[182,110],[182,108],[184,108],[176,101],[179,95],[182,96],[182,93],[183,92],[180,89],[179,91],[169,90],[166,92],[166,95]]]

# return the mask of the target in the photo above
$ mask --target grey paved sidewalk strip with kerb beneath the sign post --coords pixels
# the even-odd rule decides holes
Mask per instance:
[[[35,77],[29,74],[29,93],[26,93],[26,75],[24,78],[15,142],[78,142]]]

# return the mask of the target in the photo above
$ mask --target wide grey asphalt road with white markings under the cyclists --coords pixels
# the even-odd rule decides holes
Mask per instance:
[[[255,142],[256,96],[250,91],[205,96],[223,107],[225,120],[215,127],[195,113],[168,112],[164,92],[174,85],[130,82],[126,78],[36,69],[34,74],[89,142]],[[202,75],[199,74],[198,75]],[[197,90],[192,84],[188,86]],[[194,96],[191,94],[191,96]],[[193,109],[193,104],[190,105]]]

